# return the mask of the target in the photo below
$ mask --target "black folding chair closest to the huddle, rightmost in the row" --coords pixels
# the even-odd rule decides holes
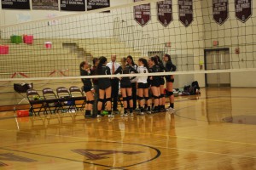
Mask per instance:
[[[82,93],[79,87],[72,86],[69,88],[69,93],[72,98],[72,105],[75,107],[77,111],[83,111],[84,105],[86,104],[86,97]]]

